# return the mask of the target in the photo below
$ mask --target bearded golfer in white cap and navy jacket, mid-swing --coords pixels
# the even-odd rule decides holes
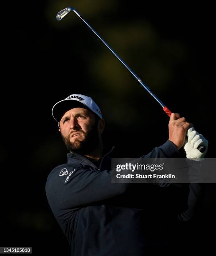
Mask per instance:
[[[177,255],[170,239],[178,236],[176,223],[196,218],[201,185],[111,183],[115,148],[103,145],[105,121],[93,99],[70,95],[54,105],[52,114],[69,153],[68,162],[50,172],[46,195],[71,255]],[[185,118],[172,113],[168,140],[142,158],[178,158],[189,127]],[[197,135],[196,141],[204,140]],[[186,154],[202,158],[206,151],[189,145]]]

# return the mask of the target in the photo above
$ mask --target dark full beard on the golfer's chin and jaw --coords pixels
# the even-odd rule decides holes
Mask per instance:
[[[70,142],[70,135],[68,135],[68,137],[62,136],[62,138],[65,143],[65,146],[68,148],[70,152],[75,152],[80,155],[87,155],[98,146],[99,138],[97,123],[95,122],[90,131],[84,133],[84,135],[85,139],[83,141],[77,139],[73,143]]]

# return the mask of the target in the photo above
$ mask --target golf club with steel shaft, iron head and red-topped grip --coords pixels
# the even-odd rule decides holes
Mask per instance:
[[[98,38],[103,42],[103,44],[105,44],[105,46],[116,56],[116,58],[118,60],[121,61],[121,63],[131,72],[131,74],[136,78],[136,80],[146,89],[147,92],[150,93],[150,95],[161,105],[161,107],[163,108],[163,110],[166,112],[166,114],[170,117],[171,116],[171,111],[163,104],[163,102],[161,100],[158,99],[158,97],[148,88],[148,86],[146,84],[143,83],[143,81],[138,77],[138,75],[136,75],[133,70],[128,67],[128,65],[120,58],[120,56],[118,56],[118,54],[116,54],[115,51],[113,51],[113,49],[103,40],[103,38],[88,24],[88,22],[86,20],[84,20],[84,18],[78,13],[77,10],[75,10],[73,7],[68,7],[65,8],[63,10],[61,10],[59,13],[57,13],[56,15],[56,19],[57,20],[61,20],[63,19],[68,13],[70,13],[70,11],[73,11],[76,15],[78,15],[80,17],[81,20],[83,20],[83,22],[90,28],[91,31],[93,31],[95,33],[96,36],[98,36]],[[198,150],[200,152],[204,152],[206,150],[205,146],[199,146]]]

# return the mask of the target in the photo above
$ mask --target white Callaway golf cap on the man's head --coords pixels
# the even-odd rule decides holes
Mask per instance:
[[[100,108],[93,99],[82,94],[71,94],[65,100],[57,102],[52,109],[53,118],[59,123],[65,112],[72,108],[83,108],[83,105],[97,114],[100,119],[103,118]]]

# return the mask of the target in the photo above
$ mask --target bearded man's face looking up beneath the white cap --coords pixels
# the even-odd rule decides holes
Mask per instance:
[[[98,145],[95,115],[85,108],[68,110],[60,122],[61,136],[69,151],[88,154]]]

